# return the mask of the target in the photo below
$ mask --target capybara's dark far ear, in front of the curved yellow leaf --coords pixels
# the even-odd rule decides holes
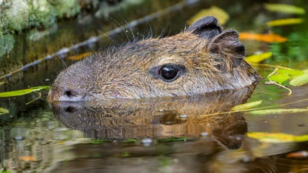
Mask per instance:
[[[222,27],[218,24],[217,18],[206,16],[190,25],[187,30],[192,31],[200,38],[210,40],[222,32]]]

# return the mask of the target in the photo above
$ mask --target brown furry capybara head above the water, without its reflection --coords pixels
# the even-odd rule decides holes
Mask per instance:
[[[133,41],[78,61],[59,74],[48,98],[146,99],[242,88],[260,79],[244,54],[238,33],[207,16],[174,36]]]

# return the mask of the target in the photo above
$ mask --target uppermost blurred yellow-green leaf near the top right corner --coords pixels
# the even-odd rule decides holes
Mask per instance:
[[[264,7],[272,12],[281,12],[287,14],[305,14],[304,8],[294,5],[281,3],[264,3]]]

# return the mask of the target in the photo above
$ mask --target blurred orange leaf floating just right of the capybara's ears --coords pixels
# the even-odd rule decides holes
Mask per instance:
[[[260,42],[286,42],[288,39],[281,37],[278,34],[270,33],[270,34],[256,34],[256,33],[248,33],[248,32],[241,32],[239,33],[240,40],[256,40]]]

